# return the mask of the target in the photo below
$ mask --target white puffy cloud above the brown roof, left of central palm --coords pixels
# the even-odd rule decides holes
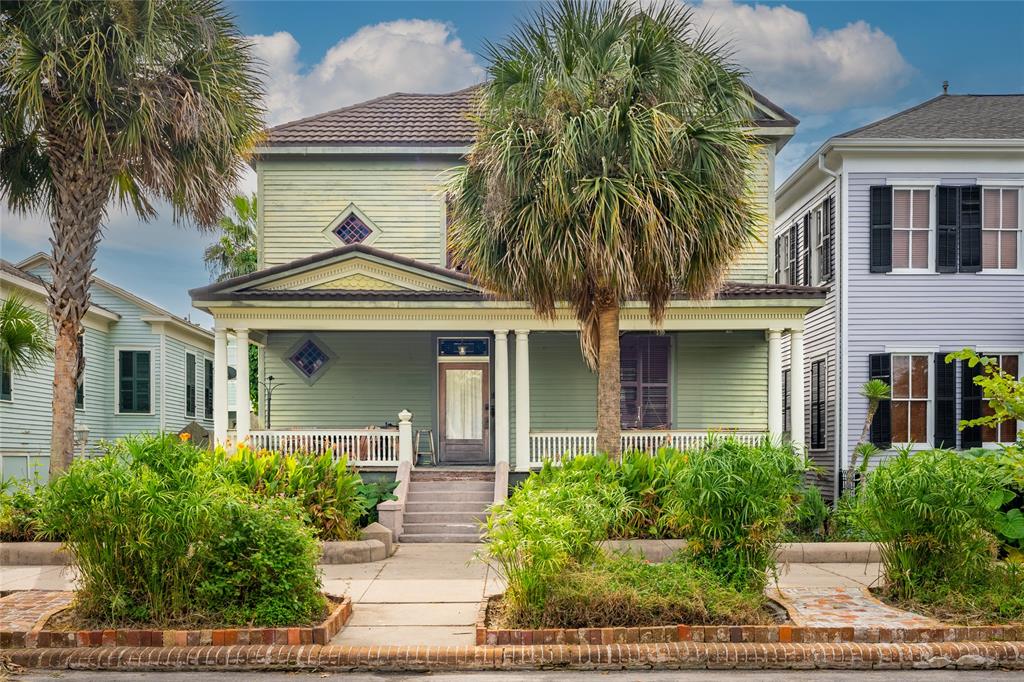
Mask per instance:
[[[483,79],[483,69],[455,29],[440,22],[399,19],[364,27],[308,70],[290,33],[250,39],[264,62],[270,125],[389,92],[446,92]]]

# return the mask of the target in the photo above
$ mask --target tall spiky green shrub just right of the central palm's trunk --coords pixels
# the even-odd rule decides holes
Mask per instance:
[[[676,505],[687,551],[737,587],[764,589],[806,463],[790,446],[712,439],[683,454]]]

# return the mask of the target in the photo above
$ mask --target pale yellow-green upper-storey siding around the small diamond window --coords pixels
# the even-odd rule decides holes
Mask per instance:
[[[324,230],[349,204],[380,229],[375,248],[440,263],[441,183],[458,163],[455,157],[259,162],[261,267],[340,246]]]

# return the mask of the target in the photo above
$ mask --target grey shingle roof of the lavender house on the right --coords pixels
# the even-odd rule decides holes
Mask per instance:
[[[845,139],[1024,139],[1024,94],[942,94]]]

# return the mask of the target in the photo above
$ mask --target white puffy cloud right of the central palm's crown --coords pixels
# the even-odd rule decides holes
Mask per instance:
[[[751,83],[782,106],[835,112],[891,95],[912,68],[889,35],[858,20],[812,29],[807,15],[785,5],[707,0],[694,18],[729,43]]]

